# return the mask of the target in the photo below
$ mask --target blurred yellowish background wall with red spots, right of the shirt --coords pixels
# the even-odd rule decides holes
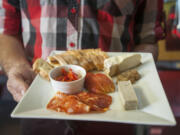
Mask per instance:
[[[165,39],[159,41],[158,66],[170,69],[180,69],[180,7],[178,0],[164,0],[163,25]],[[164,64],[164,65],[163,65]]]

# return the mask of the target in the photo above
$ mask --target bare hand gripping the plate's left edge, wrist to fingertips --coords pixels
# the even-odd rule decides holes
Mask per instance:
[[[7,88],[12,94],[14,100],[19,102],[33,81],[35,73],[33,72],[30,65],[22,64],[13,66],[8,71],[7,75]]]

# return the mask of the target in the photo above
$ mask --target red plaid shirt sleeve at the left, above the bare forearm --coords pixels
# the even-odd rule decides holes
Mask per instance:
[[[16,35],[21,29],[19,0],[0,1],[0,33]]]

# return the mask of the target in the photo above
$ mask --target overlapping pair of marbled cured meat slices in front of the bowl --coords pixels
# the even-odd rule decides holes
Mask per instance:
[[[47,109],[67,114],[82,114],[90,111],[105,112],[112,103],[112,97],[105,94],[81,92],[76,95],[67,95],[57,92],[50,100]]]

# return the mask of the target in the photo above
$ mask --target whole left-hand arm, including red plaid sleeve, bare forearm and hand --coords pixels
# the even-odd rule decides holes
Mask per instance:
[[[16,101],[21,99],[34,78],[23,45],[16,36],[21,28],[18,5],[18,0],[0,3],[0,65],[8,77],[7,88]]]

